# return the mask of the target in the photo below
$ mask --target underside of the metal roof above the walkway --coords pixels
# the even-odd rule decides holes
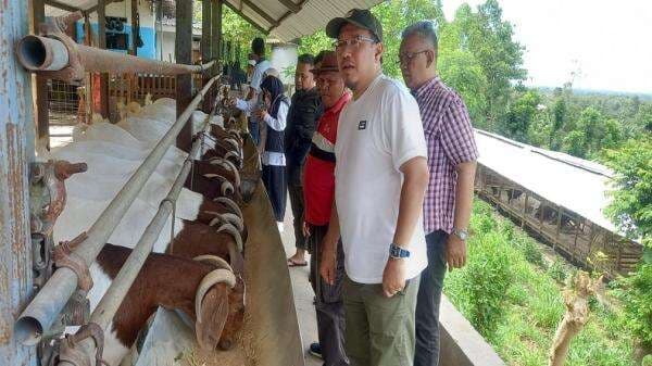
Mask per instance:
[[[87,10],[97,0],[59,0],[58,2]],[[334,17],[344,15],[353,8],[369,9],[383,0],[225,0],[229,8],[247,21],[283,41],[309,36],[323,29]],[[48,15],[64,11],[47,7]],[[296,12],[294,12],[296,11]]]

